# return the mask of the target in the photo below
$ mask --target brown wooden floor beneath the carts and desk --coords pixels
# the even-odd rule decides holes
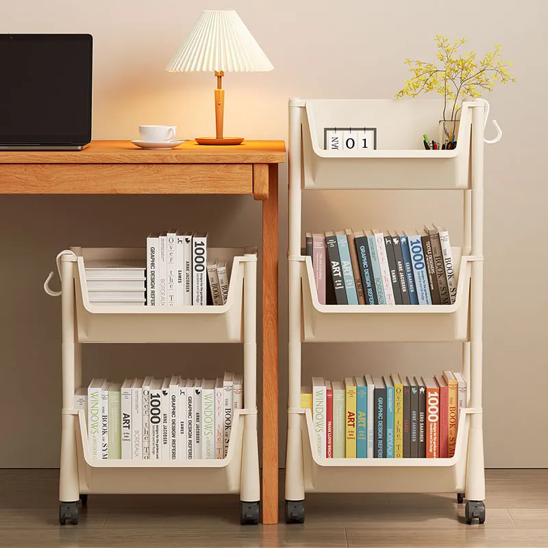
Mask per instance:
[[[453,495],[308,495],[305,525],[258,527],[237,497],[90,495],[60,527],[57,489],[57,470],[0,470],[0,547],[548,547],[548,470],[488,471],[485,525]]]

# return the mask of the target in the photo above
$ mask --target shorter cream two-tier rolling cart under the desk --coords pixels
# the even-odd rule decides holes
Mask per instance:
[[[144,259],[144,249],[71,248],[58,256],[62,300],[60,523],[78,523],[87,495],[239,493],[241,523],[258,523],[255,249],[210,249],[232,264],[223,306],[97,306],[88,299],[86,260]],[[45,284],[49,294],[48,282]],[[234,412],[227,456],[219,460],[93,460],[75,390],[82,343],[243,343],[244,408]]]

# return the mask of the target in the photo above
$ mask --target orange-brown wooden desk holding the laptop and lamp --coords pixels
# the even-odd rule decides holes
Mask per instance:
[[[262,516],[278,506],[278,164],[283,141],[173,150],[93,141],[80,152],[0,152],[0,194],[253,194],[262,201]]]

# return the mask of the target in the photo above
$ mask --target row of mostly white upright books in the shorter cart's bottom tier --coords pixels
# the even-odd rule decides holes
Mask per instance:
[[[242,388],[234,373],[215,380],[92,379],[77,390],[75,409],[84,411],[92,459],[222,459]]]

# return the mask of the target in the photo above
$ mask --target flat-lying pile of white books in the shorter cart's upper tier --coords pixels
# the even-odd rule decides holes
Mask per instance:
[[[145,305],[145,261],[87,261],[88,298],[94,305]]]

